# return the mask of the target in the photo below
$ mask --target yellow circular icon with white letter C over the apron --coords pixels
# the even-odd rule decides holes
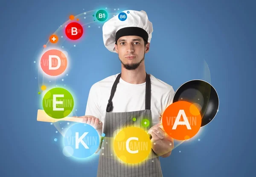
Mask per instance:
[[[125,163],[140,163],[151,152],[148,133],[138,127],[122,129],[114,139],[114,152]]]

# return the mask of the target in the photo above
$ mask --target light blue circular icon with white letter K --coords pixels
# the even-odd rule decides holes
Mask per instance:
[[[93,126],[74,124],[64,134],[65,156],[86,158],[93,155],[99,147],[99,135]],[[68,151],[67,151],[68,149]]]

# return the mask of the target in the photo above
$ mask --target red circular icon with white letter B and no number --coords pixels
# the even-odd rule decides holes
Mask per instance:
[[[66,36],[71,40],[79,39],[83,33],[83,27],[78,22],[71,22],[65,29]]]

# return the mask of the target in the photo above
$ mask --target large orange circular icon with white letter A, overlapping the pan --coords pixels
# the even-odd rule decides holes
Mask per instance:
[[[163,112],[163,128],[176,140],[188,140],[195,136],[202,123],[201,114],[195,104],[177,101]]]

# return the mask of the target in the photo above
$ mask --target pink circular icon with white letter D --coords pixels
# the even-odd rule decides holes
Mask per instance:
[[[58,76],[67,68],[67,56],[57,49],[52,49],[43,54],[40,64],[44,73]]]

